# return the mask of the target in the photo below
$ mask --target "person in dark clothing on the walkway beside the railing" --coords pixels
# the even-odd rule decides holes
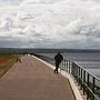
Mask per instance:
[[[54,73],[56,73],[56,72],[58,73],[58,68],[59,68],[59,64],[61,63],[62,60],[63,60],[62,54],[60,54],[60,52],[58,52],[58,53],[54,56],[54,61],[56,61]]]

